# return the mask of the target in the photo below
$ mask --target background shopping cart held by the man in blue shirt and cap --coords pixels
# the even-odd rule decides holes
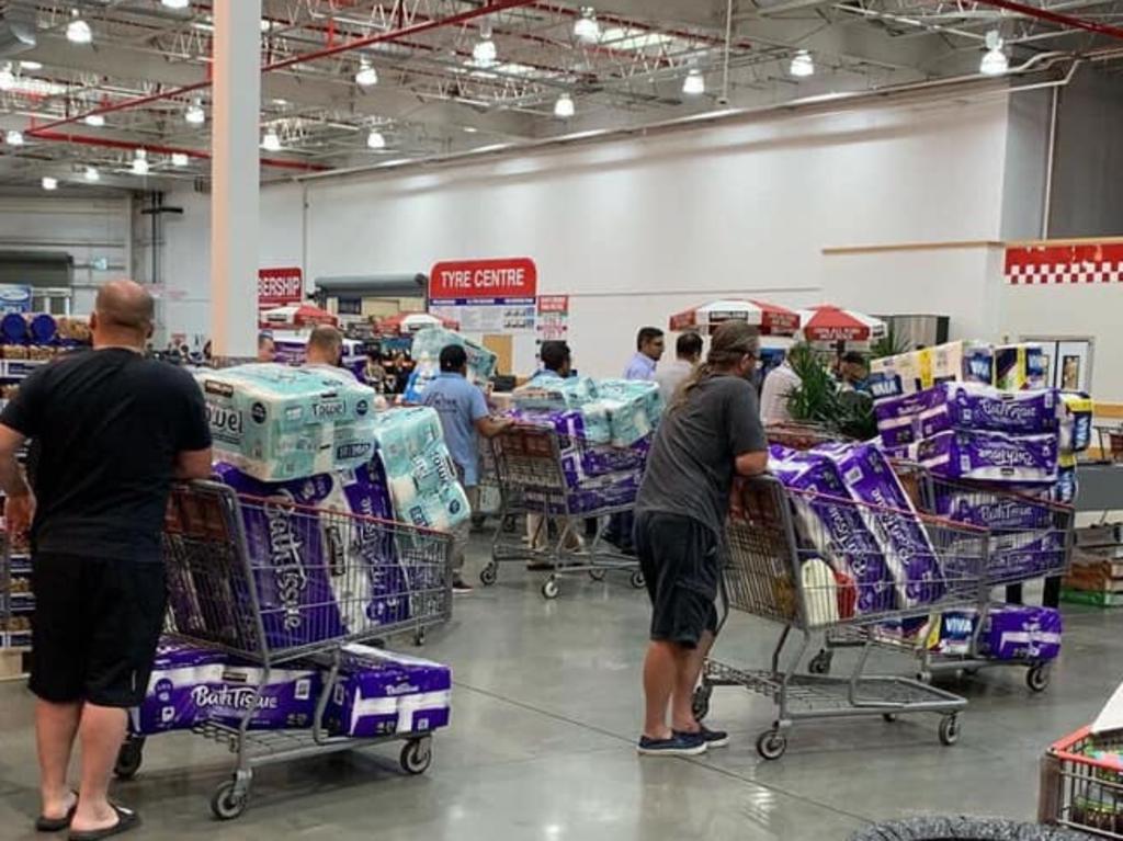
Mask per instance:
[[[633,587],[643,586],[639,561],[606,540],[604,532],[613,514],[630,512],[636,503],[636,486],[611,487],[594,497],[594,504],[569,485],[563,453],[582,457],[584,444],[558,435],[554,429],[529,424],[511,427],[492,439],[495,469],[502,487],[501,523],[527,519],[526,538],[504,528],[496,530],[492,559],[480,573],[484,586],[499,577],[503,561],[539,561],[550,568],[542,583],[542,595],[556,598],[562,575],[585,573],[602,581],[609,570],[630,573]],[[629,457],[621,451],[621,461]],[[638,473],[637,473],[638,476]],[[593,534],[585,534],[585,522],[595,521]]]

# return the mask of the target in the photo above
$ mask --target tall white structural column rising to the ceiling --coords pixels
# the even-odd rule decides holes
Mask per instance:
[[[213,13],[211,336],[216,356],[253,357],[257,347],[262,0],[216,0]]]

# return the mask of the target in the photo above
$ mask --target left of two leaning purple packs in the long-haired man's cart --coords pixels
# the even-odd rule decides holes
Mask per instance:
[[[884,554],[866,528],[861,513],[851,504],[834,464],[822,455],[797,453],[773,445],[768,469],[785,487],[816,494],[791,494],[797,529],[815,555],[825,558],[837,573],[846,574],[855,582],[858,589],[856,612],[891,610],[894,604],[893,579]]]

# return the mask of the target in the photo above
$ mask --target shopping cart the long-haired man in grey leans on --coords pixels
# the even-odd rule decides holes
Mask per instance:
[[[788,729],[806,719],[882,715],[893,721],[904,713],[937,713],[940,741],[953,744],[966,700],[919,680],[864,674],[868,640],[848,677],[797,675],[796,668],[819,632],[860,631],[873,623],[905,622],[932,610],[974,604],[986,564],[986,532],[910,511],[788,490],[772,477],[746,482],[739,495],[743,510],[731,515],[725,530],[721,624],[737,610],[784,630],[767,669],[706,660],[694,694],[699,720],[709,712],[714,686],[743,686],[773,698],[777,707],[773,726],[757,740],[765,759],[783,756]],[[861,537],[874,532],[882,538]],[[828,560],[850,573],[816,582],[807,565]],[[892,583],[884,577],[887,570],[895,570]],[[785,659],[793,631],[802,641],[795,656]]]

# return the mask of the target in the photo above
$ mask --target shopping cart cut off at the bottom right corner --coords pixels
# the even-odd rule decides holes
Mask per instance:
[[[1104,751],[1107,756],[1096,756]],[[1101,838],[1123,839],[1123,733],[1081,728],[1041,760],[1038,820]]]

